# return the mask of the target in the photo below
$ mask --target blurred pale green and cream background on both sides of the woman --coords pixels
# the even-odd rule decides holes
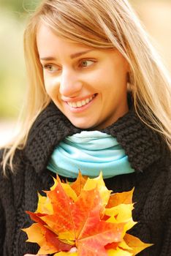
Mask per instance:
[[[18,130],[26,91],[23,30],[40,0],[0,1],[0,146]],[[129,0],[171,72],[171,0]]]

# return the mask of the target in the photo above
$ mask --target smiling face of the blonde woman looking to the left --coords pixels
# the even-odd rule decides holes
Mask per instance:
[[[47,94],[75,127],[103,129],[128,111],[129,65],[118,50],[68,42],[44,25],[37,48]]]

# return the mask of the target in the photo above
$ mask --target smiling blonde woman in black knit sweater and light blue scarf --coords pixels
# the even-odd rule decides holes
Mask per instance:
[[[24,35],[28,96],[1,150],[0,255],[36,254],[21,230],[52,176],[103,171],[134,187],[130,233],[171,255],[170,80],[126,0],[45,0]]]

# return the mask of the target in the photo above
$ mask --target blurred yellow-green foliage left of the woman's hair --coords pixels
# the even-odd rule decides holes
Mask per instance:
[[[39,0],[0,1],[0,118],[18,116],[26,91],[23,30]]]

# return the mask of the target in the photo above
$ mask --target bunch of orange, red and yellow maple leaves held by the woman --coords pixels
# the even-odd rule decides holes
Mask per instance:
[[[38,254],[54,256],[133,256],[151,244],[126,233],[132,219],[132,194],[113,194],[97,178],[79,173],[72,184],[54,178],[47,196],[39,195],[37,211],[26,211],[34,224],[23,229]]]

